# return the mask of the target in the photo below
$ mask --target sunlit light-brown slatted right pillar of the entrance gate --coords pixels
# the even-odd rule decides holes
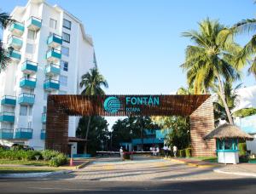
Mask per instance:
[[[215,140],[203,140],[203,137],[214,128],[212,97],[201,104],[189,118],[192,156],[216,156]]]

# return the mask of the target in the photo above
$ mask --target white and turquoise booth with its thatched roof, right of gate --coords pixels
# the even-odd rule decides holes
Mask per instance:
[[[238,128],[236,125],[224,123],[213,129],[204,137],[205,140],[216,140],[218,163],[239,163],[238,141],[253,140],[253,137]]]

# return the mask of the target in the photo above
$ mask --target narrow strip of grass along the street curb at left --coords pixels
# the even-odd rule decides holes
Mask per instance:
[[[26,167],[0,167],[0,174],[15,173],[45,173],[58,170],[57,168],[26,168]]]

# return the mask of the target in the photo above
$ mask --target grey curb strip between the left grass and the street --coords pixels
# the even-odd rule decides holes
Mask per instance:
[[[0,174],[0,178],[36,178],[36,177],[45,177],[49,175],[68,174],[70,172],[72,172],[72,170],[60,170],[56,172],[46,172],[46,173]]]

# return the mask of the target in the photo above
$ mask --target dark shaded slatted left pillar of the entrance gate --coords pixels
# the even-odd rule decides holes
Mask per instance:
[[[45,149],[68,154],[68,115],[51,97],[47,101]]]

